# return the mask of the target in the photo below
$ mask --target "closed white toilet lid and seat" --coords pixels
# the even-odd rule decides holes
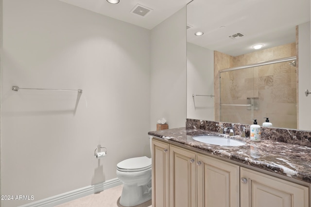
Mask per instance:
[[[117,164],[117,169],[122,172],[138,172],[151,168],[151,158],[138,157],[125,159]]]

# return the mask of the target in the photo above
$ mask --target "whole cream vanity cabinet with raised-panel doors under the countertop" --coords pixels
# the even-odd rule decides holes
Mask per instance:
[[[153,207],[309,207],[309,186],[152,140]],[[241,189],[240,189],[241,188]]]

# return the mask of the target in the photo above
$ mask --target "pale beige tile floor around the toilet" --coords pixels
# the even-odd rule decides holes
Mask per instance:
[[[56,207],[123,207],[119,203],[122,185],[58,205]],[[151,207],[151,200],[135,207]]]

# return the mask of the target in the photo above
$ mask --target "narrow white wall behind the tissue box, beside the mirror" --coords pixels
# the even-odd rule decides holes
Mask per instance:
[[[151,31],[151,130],[186,123],[186,7]]]

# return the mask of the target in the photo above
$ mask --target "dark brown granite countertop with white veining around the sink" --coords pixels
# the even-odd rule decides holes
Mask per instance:
[[[186,129],[186,127],[151,131],[148,134],[169,142],[184,144],[218,157],[311,183],[311,147],[308,146],[271,140],[252,142],[249,138],[241,136],[230,138],[242,140],[246,143],[245,145],[219,146],[192,139],[192,136],[217,135],[218,133],[202,129]]]

